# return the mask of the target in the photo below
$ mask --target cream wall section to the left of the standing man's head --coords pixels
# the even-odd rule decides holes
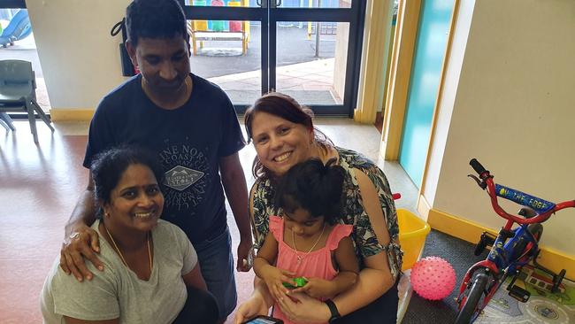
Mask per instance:
[[[129,0],[27,0],[52,108],[95,108],[125,78],[111,27]]]

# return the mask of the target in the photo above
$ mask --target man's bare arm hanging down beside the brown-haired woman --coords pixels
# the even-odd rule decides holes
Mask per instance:
[[[244,266],[243,259],[248,259],[252,244],[248,215],[248,187],[237,152],[219,159],[219,173],[227,200],[232,207],[232,212],[234,212],[235,224],[240,230],[237,270],[247,272],[249,267]]]

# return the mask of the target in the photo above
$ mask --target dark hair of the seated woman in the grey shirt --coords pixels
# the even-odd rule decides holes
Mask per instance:
[[[164,172],[159,166],[157,158],[148,150],[126,146],[104,150],[96,156],[90,166],[96,187],[94,192],[97,202],[101,205],[110,203],[111,191],[118,186],[119,179],[128,166],[132,165],[148,166],[158,184],[164,181]]]

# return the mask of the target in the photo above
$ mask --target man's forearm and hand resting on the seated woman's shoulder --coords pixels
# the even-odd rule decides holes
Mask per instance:
[[[96,202],[94,200],[94,181],[89,174],[88,186],[80,195],[72,216],[65,225],[64,243],[60,250],[60,267],[66,274],[73,274],[79,282],[84,278],[91,280],[93,275],[86,267],[84,258],[88,258],[100,271],[102,262],[96,257],[100,252],[98,234],[88,225],[96,220]]]

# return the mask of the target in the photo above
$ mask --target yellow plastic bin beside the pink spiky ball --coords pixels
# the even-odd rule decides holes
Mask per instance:
[[[405,271],[418,262],[419,254],[423,250],[431,227],[425,220],[405,209],[397,210],[397,222],[399,223],[399,243],[403,250],[402,270]]]

